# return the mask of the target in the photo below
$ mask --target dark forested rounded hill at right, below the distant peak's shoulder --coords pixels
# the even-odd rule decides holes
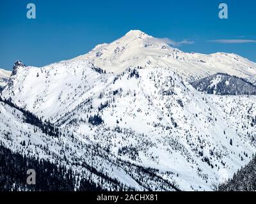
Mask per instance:
[[[196,90],[218,95],[256,95],[256,86],[243,78],[217,73],[192,82]]]

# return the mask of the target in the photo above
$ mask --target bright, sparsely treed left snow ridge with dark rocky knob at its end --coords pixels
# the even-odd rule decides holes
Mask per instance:
[[[22,62],[15,64],[3,96],[21,97],[17,105],[36,109],[42,117],[71,111],[83,102],[83,92],[97,92],[108,83],[108,78],[104,79],[105,75],[95,71],[98,68],[88,61],[58,62],[43,68],[24,66]],[[72,103],[69,103],[70,98]],[[33,103],[28,104],[28,101]]]

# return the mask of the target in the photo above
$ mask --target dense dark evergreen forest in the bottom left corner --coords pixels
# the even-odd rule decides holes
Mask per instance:
[[[36,172],[36,184],[28,185],[27,170]],[[65,166],[45,159],[22,156],[0,145],[0,191],[101,191],[90,179],[81,178]]]

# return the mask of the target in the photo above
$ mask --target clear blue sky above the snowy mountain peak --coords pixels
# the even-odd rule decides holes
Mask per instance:
[[[28,3],[36,19],[26,18]],[[218,18],[220,3],[228,5],[227,20]],[[256,62],[255,9],[254,0],[1,0],[0,68],[18,59],[31,66],[70,59],[131,29],[193,41],[178,45],[186,52],[232,52]]]

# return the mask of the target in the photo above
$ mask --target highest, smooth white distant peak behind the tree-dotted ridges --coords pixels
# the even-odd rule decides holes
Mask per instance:
[[[122,38],[109,44],[97,45],[88,54],[71,61],[89,60],[113,73],[122,73],[129,66],[170,68],[187,80],[216,73],[227,73],[248,79],[256,75],[256,64],[239,55],[186,53],[170,47],[165,41],[141,31],[129,31]]]

